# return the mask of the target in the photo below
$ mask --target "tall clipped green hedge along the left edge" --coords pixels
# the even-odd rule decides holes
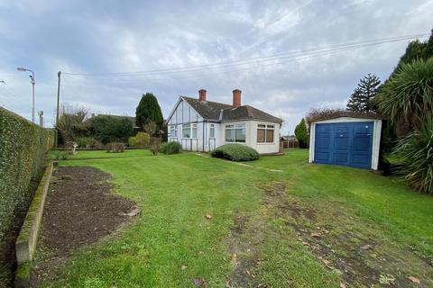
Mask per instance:
[[[53,143],[53,130],[0,107],[0,283],[11,279],[14,240]]]

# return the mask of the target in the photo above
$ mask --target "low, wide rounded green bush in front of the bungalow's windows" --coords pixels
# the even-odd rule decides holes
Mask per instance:
[[[259,152],[242,144],[226,144],[212,151],[212,157],[232,161],[251,161],[259,158]]]

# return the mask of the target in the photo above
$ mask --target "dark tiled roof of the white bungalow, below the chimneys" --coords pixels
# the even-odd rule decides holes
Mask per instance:
[[[250,105],[233,107],[230,104],[213,101],[199,101],[197,98],[181,96],[201,117],[213,121],[263,120],[282,122],[280,118]]]

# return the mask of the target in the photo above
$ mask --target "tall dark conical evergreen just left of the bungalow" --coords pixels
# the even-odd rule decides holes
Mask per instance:
[[[157,131],[162,129],[164,122],[160,104],[152,93],[143,94],[135,111],[135,123],[138,127],[143,129],[143,126],[149,122],[156,124]]]

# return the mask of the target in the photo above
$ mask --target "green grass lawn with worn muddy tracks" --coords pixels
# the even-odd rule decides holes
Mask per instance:
[[[115,238],[80,249],[44,285],[433,286],[433,198],[307,158],[301,149],[243,164],[80,151],[60,165],[112,174],[115,193],[142,213]]]

